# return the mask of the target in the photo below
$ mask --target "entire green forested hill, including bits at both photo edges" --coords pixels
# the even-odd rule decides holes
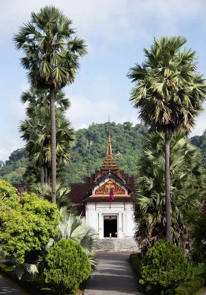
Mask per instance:
[[[110,123],[110,134],[113,156],[121,170],[129,175],[135,175],[136,161],[147,127],[142,124],[132,126],[132,123],[124,124]],[[99,169],[106,154],[108,138],[108,123],[93,123],[88,128],[77,130],[77,145],[72,150],[72,162],[67,166],[68,183],[79,183],[84,181],[85,176]],[[201,136],[191,138],[192,144],[199,147],[203,154],[203,163],[206,167],[206,131]],[[0,178],[11,183],[24,183],[24,173],[27,160],[24,148],[17,149],[11,153],[9,160],[0,161]]]

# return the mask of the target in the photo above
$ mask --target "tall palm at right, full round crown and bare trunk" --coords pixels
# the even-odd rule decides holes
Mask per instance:
[[[154,38],[146,59],[135,63],[128,77],[135,82],[130,101],[139,109],[139,118],[165,136],[166,240],[171,240],[170,220],[170,139],[176,130],[190,132],[195,117],[203,111],[205,78],[197,72],[196,53],[181,47],[185,37]]]

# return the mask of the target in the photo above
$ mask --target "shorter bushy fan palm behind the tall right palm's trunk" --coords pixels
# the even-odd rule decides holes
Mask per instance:
[[[204,195],[206,173],[199,148],[176,131],[170,140],[171,239],[188,257],[191,244],[189,214],[198,211]],[[137,199],[134,205],[135,238],[143,255],[165,236],[165,166],[163,133],[150,133],[138,160]]]

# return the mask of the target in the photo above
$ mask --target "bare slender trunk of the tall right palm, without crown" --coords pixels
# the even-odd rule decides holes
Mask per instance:
[[[170,136],[165,131],[165,194],[166,194],[166,241],[171,241],[170,221]]]

